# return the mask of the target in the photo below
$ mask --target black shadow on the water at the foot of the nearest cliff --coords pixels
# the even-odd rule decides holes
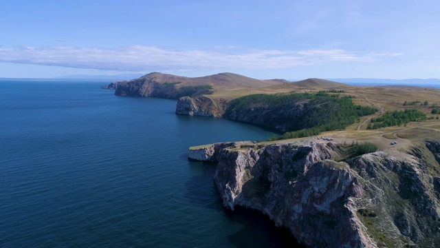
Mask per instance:
[[[269,217],[259,211],[235,207],[234,211],[225,210],[225,214],[231,221],[244,227],[228,236],[236,247],[305,247],[288,229],[276,227]]]

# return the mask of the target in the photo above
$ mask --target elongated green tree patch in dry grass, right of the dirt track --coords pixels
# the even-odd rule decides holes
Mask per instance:
[[[384,115],[371,118],[371,123],[366,126],[367,130],[375,130],[382,127],[406,125],[411,121],[426,121],[426,114],[419,110],[399,110],[386,112]]]

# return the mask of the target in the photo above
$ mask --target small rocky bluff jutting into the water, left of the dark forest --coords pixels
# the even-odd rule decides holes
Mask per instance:
[[[219,117],[225,111],[225,106],[224,99],[212,99],[207,96],[184,96],[177,101],[176,114]]]

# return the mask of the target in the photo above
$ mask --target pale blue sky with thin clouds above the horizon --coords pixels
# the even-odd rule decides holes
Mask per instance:
[[[0,78],[439,79],[438,0],[0,0]]]

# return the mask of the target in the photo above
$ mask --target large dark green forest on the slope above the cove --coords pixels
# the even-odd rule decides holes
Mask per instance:
[[[377,112],[377,108],[355,105],[350,97],[327,92],[290,94],[252,94],[234,99],[225,111],[225,118],[247,121],[287,132],[270,140],[318,135],[320,132],[343,130],[360,116]],[[236,118],[241,116],[241,118]],[[281,131],[281,130],[279,130]]]

